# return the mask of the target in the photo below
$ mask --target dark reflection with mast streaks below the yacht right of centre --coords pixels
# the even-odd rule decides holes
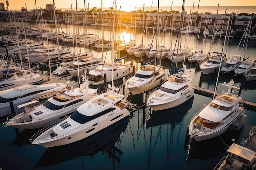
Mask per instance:
[[[184,117],[192,107],[194,97],[166,110],[155,111],[148,108],[148,115],[145,117],[145,127],[147,137],[145,137],[145,147],[147,153],[148,168],[153,158],[153,154],[159,155],[159,148],[166,147],[166,162],[170,161],[175,146],[179,145],[182,135],[181,130],[184,125]],[[149,138],[149,139],[148,139]]]

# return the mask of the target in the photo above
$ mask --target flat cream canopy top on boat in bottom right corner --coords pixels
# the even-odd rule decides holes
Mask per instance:
[[[227,151],[235,155],[238,155],[239,157],[247,159],[249,161],[251,161],[256,155],[256,152],[249,150],[238,144],[232,144]]]

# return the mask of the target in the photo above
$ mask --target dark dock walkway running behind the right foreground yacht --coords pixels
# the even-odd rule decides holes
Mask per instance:
[[[195,91],[196,94],[213,98],[214,91],[208,90],[208,89],[205,89],[205,88],[202,88],[202,87],[197,87],[197,86],[193,86],[193,88],[194,88],[194,91]],[[218,94],[219,93],[216,92],[215,95],[218,95]],[[240,104],[243,104],[245,106],[245,109],[256,111],[256,103],[249,102],[249,101],[246,101],[246,100],[242,99]]]

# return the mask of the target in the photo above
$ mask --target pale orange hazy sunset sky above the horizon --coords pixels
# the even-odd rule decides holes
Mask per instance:
[[[55,6],[57,9],[76,9],[76,1],[77,8],[84,9],[84,2],[86,5],[89,4],[89,8],[97,7],[101,8],[101,2],[103,2],[102,6],[104,8],[113,7],[114,0],[54,0]],[[5,0],[2,0],[5,5]],[[159,0],[160,7],[171,7],[172,0]],[[198,6],[199,0],[185,0],[185,6]],[[122,11],[133,11],[135,7],[151,7],[157,6],[158,0],[116,0],[117,10],[119,10],[120,6]],[[27,5],[27,9],[36,9],[37,8],[45,8],[45,4],[53,4],[53,0],[9,0],[9,10],[19,10],[21,7],[25,8],[25,4]],[[200,0],[200,6],[256,6],[256,0]],[[182,6],[182,0],[173,0],[173,6]]]

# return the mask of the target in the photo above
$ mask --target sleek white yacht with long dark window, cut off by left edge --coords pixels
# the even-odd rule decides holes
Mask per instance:
[[[0,91],[0,117],[11,114],[10,102],[13,103],[14,111],[17,112],[20,111],[20,108],[17,107],[18,105],[27,103],[38,96],[52,96],[58,91],[63,91],[65,87],[66,84],[63,83],[25,84]]]

